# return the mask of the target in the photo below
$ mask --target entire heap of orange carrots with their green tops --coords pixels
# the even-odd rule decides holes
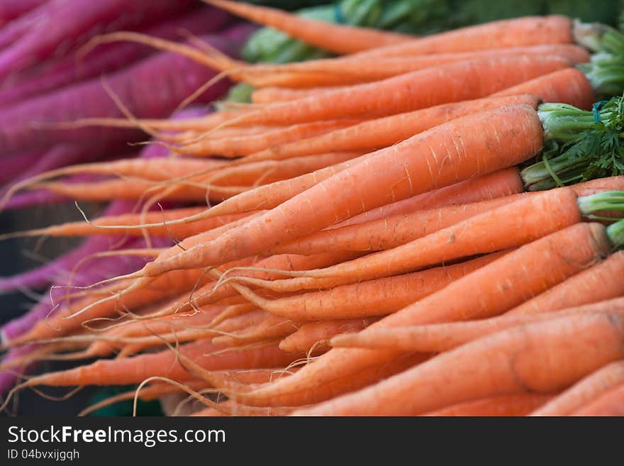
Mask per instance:
[[[4,349],[28,350],[1,370],[97,360],[28,378],[4,406],[28,387],[138,384],[109,401],[189,394],[204,416],[622,409],[624,105],[594,105],[604,89],[575,67],[591,57],[574,43],[582,31],[616,62],[618,33],[547,16],[412,38],[207,2],[342,56],[248,65],[196,43],[98,39],[149,43],[278,94],[179,120],[63,123],[140,128],[170,155],[14,186],[3,204],[35,187],[141,209],[13,235],[143,238],[115,254],[152,260],[62,289],[20,335],[5,328]],[[584,158],[596,141],[611,145]],[[520,166],[543,149],[585,164],[581,175],[562,180],[544,157],[560,186],[528,192],[537,169]],[[603,177],[587,179],[592,164]],[[65,181],[77,174],[104,178]],[[186,206],[150,211],[162,201]]]

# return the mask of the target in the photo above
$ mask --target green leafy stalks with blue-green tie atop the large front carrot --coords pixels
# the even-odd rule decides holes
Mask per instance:
[[[624,99],[601,104],[591,112],[565,104],[539,107],[545,148],[540,161],[520,173],[525,189],[540,191],[624,174]]]

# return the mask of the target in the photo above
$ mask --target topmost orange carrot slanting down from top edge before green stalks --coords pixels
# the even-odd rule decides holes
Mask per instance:
[[[271,26],[318,48],[335,53],[353,53],[410,40],[411,36],[344,24],[313,21],[266,6],[241,4],[238,1],[204,0],[245,19]]]

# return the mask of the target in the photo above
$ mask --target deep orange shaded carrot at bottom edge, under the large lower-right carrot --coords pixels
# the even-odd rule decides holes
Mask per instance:
[[[526,416],[553,398],[552,394],[523,393],[466,401],[424,416]]]

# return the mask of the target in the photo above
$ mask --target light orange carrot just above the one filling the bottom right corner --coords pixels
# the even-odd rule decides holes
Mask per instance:
[[[603,393],[624,384],[624,362],[612,362],[574,384],[531,416],[567,416]]]

